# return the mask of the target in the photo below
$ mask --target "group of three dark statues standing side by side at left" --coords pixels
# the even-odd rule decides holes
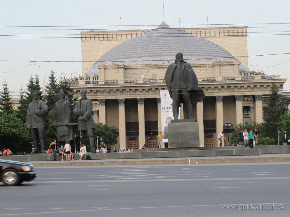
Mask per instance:
[[[59,91],[59,101],[55,103],[51,125],[55,126],[57,132],[57,142],[70,142],[75,139],[73,125],[78,125],[78,131],[81,133],[81,143],[86,143],[86,134],[90,140],[91,151],[94,149],[93,131],[95,123],[93,121],[93,103],[87,98],[86,90],[81,90],[81,99],[77,101],[73,114],[78,116],[77,123],[71,123],[72,110],[68,97],[63,90]],[[33,101],[28,104],[27,108],[27,128],[30,129],[34,144],[34,151],[31,154],[46,153],[46,114],[48,107],[44,101],[39,99],[38,92],[32,93]]]

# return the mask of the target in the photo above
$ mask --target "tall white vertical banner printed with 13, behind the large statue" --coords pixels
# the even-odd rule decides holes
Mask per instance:
[[[172,113],[172,99],[169,96],[168,90],[160,91],[160,102],[161,102],[161,128],[162,135],[164,139],[162,139],[163,143],[168,143],[168,127],[167,124],[173,120]],[[178,114],[178,119],[180,119],[180,111]]]

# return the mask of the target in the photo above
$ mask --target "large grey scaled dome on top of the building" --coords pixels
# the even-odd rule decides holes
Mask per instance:
[[[157,33],[157,32],[160,33]],[[104,54],[87,75],[97,74],[99,64],[124,63],[162,64],[172,63],[177,52],[182,52],[189,63],[236,60],[219,45],[201,37],[186,34],[182,30],[160,29],[125,41]]]

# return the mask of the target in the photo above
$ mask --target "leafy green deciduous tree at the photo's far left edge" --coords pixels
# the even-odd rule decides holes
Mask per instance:
[[[26,123],[17,117],[16,112],[3,114],[0,116],[0,147],[10,148],[12,152],[28,151],[30,132],[26,128]]]

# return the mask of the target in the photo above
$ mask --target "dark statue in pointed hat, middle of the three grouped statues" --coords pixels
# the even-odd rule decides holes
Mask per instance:
[[[72,110],[70,101],[65,99],[63,90],[59,91],[59,101],[55,103],[52,111],[51,125],[56,127],[57,142],[70,142],[75,139],[72,125],[69,125],[72,119]]]

